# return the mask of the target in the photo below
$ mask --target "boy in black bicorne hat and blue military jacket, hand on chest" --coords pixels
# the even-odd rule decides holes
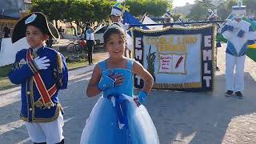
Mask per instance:
[[[49,35],[59,38],[58,30],[47,22],[45,14],[27,15],[14,26],[12,42],[26,37],[29,49],[16,54],[10,82],[21,85],[20,118],[34,144],[63,144],[63,109],[58,91],[67,88],[66,60],[46,46]]]

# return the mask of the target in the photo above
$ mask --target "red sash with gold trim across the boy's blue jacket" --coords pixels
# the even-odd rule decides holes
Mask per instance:
[[[34,58],[31,55],[31,51],[27,50],[26,53],[26,59],[27,62],[31,62]],[[42,81],[42,77],[39,74],[39,72],[35,72],[33,76],[33,80],[35,85],[38,88],[38,92],[41,95],[41,98],[39,98],[38,102],[41,102],[43,106],[50,108],[50,106],[54,106],[54,102],[51,101],[51,97],[56,93],[57,86],[54,84],[49,90],[46,89],[45,83]]]

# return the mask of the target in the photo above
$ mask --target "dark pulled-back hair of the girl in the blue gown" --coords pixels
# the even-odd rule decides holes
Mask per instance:
[[[111,34],[120,34],[122,36],[122,38],[124,38],[124,40],[126,41],[126,34],[122,30],[121,26],[119,26],[117,24],[112,24],[108,27],[108,29],[106,30],[106,32],[103,35],[105,46],[106,46],[106,42],[109,40],[109,37]]]

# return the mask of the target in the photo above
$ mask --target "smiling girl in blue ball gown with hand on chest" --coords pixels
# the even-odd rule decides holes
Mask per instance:
[[[126,35],[113,24],[106,30],[104,46],[110,57],[94,68],[86,90],[88,97],[103,92],[86,126],[81,144],[158,144],[158,133],[146,108],[153,78],[143,66],[123,56]],[[134,96],[134,74],[144,81],[142,91]]]

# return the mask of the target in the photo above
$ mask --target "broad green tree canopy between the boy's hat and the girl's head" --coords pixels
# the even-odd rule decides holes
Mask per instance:
[[[108,0],[35,0],[31,11],[41,11],[50,21],[69,22],[76,34],[72,22],[82,31],[87,23],[100,24],[109,18],[112,5]]]

